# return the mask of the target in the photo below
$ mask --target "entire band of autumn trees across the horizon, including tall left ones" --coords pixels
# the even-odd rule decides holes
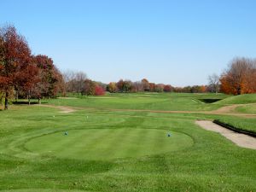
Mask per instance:
[[[49,98],[67,93],[86,96],[102,96],[105,91],[116,92],[223,92],[240,95],[256,92],[256,60],[237,57],[230,61],[220,76],[212,74],[207,85],[173,87],[171,84],[155,84],[148,79],[132,82],[119,79],[104,84],[88,79],[84,72],[61,73],[47,55],[32,55],[26,38],[15,26],[0,27],[0,99],[8,109],[9,98]]]

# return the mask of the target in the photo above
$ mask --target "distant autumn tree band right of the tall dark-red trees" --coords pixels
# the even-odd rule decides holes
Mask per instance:
[[[132,82],[119,79],[118,82],[103,84],[87,79],[83,72],[67,71],[62,73],[65,79],[64,90],[87,96],[101,96],[105,91],[110,93],[129,92],[178,92],[178,93],[226,93],[240,95],[256,92],[256,60],[237,57],[230,61],[227,69],[221,75],[208,76],[208,84],[185,87],[174,87],[171,84],[155,84],[148,79]]]

